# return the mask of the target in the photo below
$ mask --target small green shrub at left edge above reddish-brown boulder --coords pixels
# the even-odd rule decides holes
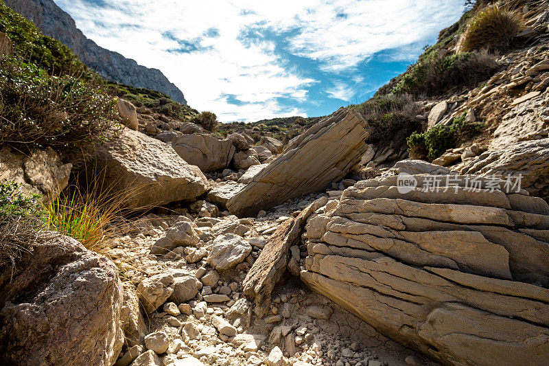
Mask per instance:
[[[11,266],[38,243],[45,228],[40,196],[25,195],[14,182],[0,183],[0,270]]]

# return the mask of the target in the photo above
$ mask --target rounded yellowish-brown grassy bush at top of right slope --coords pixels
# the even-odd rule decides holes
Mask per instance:
[[[463,34],[460,49],[473,52],[486,49],[489,52],[506,52],[515,34],[522,27],[517,12],[506,10],[497,4],[478,11]]]

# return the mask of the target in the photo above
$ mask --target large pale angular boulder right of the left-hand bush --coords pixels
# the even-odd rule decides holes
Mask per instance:
[[[209,187],[200,169],[170,145],[128,128],[97,150],[96,163],[104,189],[131,192],[131,207],[194,200]]]

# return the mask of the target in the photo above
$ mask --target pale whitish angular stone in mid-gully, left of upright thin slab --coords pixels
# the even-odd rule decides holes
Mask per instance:
[[[206,261],[218,271],[226,271],[244,262],[251,253],[252,246],[242,236],[227,233],[213,240]]]

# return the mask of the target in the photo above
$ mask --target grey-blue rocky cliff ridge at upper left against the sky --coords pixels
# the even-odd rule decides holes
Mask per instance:
[[[52,0],[6,0],[6,5],[31,19],[43,34],[69,46],[80,60],[104,78],[122,84],[161,91],[176,102],[187,105],[183,93],[162,71],[138,65],[117,52],[98,46],[76,27],[69,14]]]

